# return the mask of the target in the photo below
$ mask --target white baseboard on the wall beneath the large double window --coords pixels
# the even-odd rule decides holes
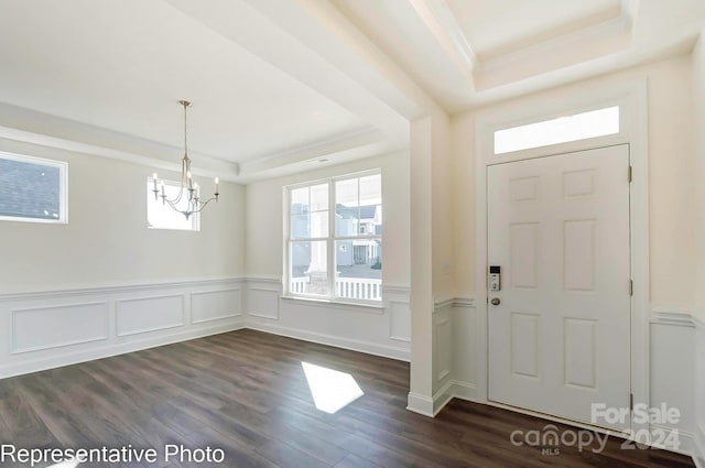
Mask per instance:
[[[314,331],[282,327],[281,325],[264,323],[248,322],[246,328],[286,336],[290,338],[302,339],[304,341],[334,346],[336,348],[348,349],[351,351],[366,352],[368,355],[380,356],[382,358],[397,359],[399,361],[409,362],[411,360],[411,352],[408,349],[394,348],[392,346],[378,345],[375,342],[360,341],[349,338],[340,338],[338,336],[324,335]]]

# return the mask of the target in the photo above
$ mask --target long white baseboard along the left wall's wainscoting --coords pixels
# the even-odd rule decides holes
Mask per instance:
[[[245,328],[245,320],[241,318],[236,323],[217,325],[207,328],[189,329],[181,333],[174,333],[155,338],[133,340],[129,342],[117,344],[85,351],[73,351],[54,355],[48,359],[34,359],[19,363],[9,363],[0,366],[0,379],[14,376],[22,376],[31,372],[40,372],[47,369],[56,369],[66,366],[73,366],[80,362],[105,359],[112,356],[124,355],[128,352],[141,351],[144,349],[155,348],[158,346],[172,345],[174,342],[187,341],[191,339],[203,338],[212,335],[219,335],[228,331],[235,331]]]

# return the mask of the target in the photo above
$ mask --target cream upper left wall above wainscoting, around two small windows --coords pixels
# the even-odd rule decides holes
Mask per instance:
[[[69,221],[0,221],[0,294],[243,274],[242,186],[220,184],[199,232],[148,229],[147,177],[166,172],[7,140],[0,151],[68,162]]]

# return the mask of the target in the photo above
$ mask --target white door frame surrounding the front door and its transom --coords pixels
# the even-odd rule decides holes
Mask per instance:
[[[578,113],[604,107],[619,106],[619,133],[539,149],[495,154],[496,130]],[[631,276],[631,390],[633,403],[650,405],[649,400],[649,173],[648,173],[648,106],[647,80],[630,80],[616,85],[600,84],[567,94],[552,91],[538,97],[518,99],[479,113],[476,118],[476,330],[477,387],[476,398],[488,400],[488,319],[487,319],[487,166],[538,156],[562,154],[616,144],[629,144],[632,166],[630,184]],[[625,175],[627,176],[627,175]],[[568,424],[571,424],[568,422]],[[632,431],[648,429],[648,424],[632,424]]]

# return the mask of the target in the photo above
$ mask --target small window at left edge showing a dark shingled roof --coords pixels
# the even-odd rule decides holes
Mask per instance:
[[[0,153],[0,219],[68,222],[68,164]]]

